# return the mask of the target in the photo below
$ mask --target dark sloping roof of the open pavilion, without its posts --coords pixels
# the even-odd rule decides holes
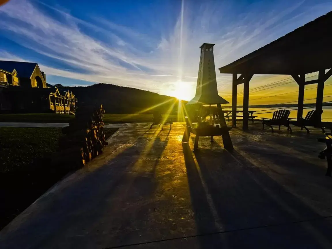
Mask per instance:
[[[301,74],[332,68],[332,11],[218,68],[220,73]]]

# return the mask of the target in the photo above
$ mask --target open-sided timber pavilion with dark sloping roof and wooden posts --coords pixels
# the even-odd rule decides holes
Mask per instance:
[[[249,82],[254,74],[285,74],[294,78],[299,86],[298,120],[303,115],[304,86],[317,84],[316,110],[322,110],[324,83],[332,75],[331,26],[332,11],[218,68],[220,73],[233,75],[233,126],[236,126],[237,86],[243,84],[243,129],[248,129]],[[312,72],[318,72],[318,79],[305,81],[305,74]],[[321,119],[321,114],[317,119]]]

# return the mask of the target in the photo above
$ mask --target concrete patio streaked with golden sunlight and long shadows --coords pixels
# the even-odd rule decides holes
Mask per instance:
[[[123,124],[104,153],[0,232],[0,248],[332,248],[320,130],[260,124],[182,143],[174,123]]]

